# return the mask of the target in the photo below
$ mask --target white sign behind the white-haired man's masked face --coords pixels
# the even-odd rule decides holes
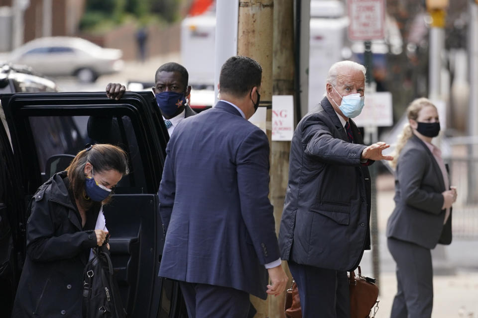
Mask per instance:
[[[392,93],[365,92],[365,106],[354,122],[359,127],[388,127],[393,125]]]

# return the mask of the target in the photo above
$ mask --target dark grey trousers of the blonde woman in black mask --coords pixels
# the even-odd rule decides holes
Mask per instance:
[[[387,239],[397,264],[397,294],[390,318],[430,318],[433,308],[433,267],[430,250],[399,239]]]

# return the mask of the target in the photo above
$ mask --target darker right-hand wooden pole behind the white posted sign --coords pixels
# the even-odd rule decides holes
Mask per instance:
[[[294,1],[274,0],[272,54],[272,92],[274,95],[294,95]],[[292,112],[295,113],[295,112]],[[271,143],[270,201],[274,206],[275,230],[279,233],[289,179],[290,141]],[[282,266],[291,277],[286,261]],[[287,288],[290,286],[290,281]],[[285,293],[270,298],[269,317],[285,318]]]

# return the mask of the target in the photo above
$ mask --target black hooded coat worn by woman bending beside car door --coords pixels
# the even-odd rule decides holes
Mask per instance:
[[[56,173],[32,199],[12,318],[82,317],[83,269],[97,240],[82,230],[66,178],[66,171]]]

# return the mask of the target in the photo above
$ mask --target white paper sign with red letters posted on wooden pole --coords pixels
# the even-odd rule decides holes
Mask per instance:
[[[289,141],[294,133],[294,96],[272,96],[272,140]]]

